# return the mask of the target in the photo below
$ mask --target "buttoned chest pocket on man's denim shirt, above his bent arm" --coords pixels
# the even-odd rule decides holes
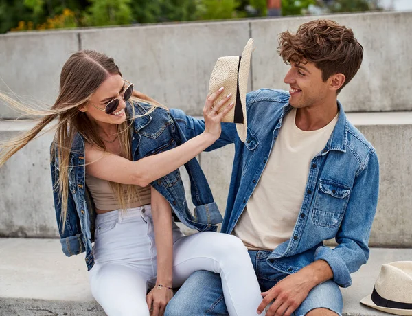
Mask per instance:
[[[320,180],[312,211],[314,225],[335,228],[341,224],[350,187],[332,180]]]

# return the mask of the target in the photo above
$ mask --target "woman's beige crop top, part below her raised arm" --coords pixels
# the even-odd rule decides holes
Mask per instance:
[[[95,207],[98,210],[113,211],[119,209],[119,201],[117,201],[115,194],[113,194],[108,181],[86,174],[86,185],[87,188],[89,188]],[[137,192],[139,194],[139,199],[132,199],[132,201],[126,205],[126,208],[150,204],[150,185],[147,185],[144,188],[137,186]]]

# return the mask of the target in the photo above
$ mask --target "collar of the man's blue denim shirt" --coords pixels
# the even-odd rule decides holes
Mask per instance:
[[[339,108],[339,117],[338,117],[338,122],[336,122],[336,126],[334,127],[334,130],[332,132],[332,135],[330,135],[330,138],[328,140],[328,143],[326,143],[325,148],[322,151],[322,154],[324,155],[327,153],[329,150],[337,150],[341,151],[343,153],[346,153],[346,146],[347,146],[347,119],[346,119],[346,114],[345,111],[343,111],[343,106],[341,102],[338,101],[338,108]],[[279,120],[279,126],[282,126],[282,120],[284,116],[289,113],[290,110],[292,110],[293,107],[287,103],[283,107],[282,115]]]

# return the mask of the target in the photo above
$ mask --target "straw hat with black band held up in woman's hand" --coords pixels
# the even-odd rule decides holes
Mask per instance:
[[[222,122],[236,123],[236,130],[242,142],[246,140],[247,136],[246,91],[252,50],[253,38],[250,38],[243,49],[242,56],[220,57],[211,72],[209,82],[209,95],[220,87],[225,87],[225,93],[218,96],[215,104],[226,98],[229,93],[232,94],[235,106],[223,117]],[[222,106],[218,113],[223,111],[226,106]]]

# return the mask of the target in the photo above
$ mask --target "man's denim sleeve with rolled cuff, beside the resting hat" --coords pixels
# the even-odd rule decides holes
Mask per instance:
[[[358,271],[369,259],[369,236],[378,204],[379,163],[371,149],[354,181],[341,227],[336,234],[338,246],[321,246],[315,260],[325,260],[333,271],[333,280],[341,287],[352,284],[350,273]]]

